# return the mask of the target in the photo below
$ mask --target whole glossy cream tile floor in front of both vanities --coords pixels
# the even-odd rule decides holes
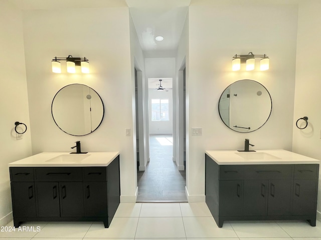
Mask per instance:
[[[2,231],[2,227],[0,240],[321,240],[319,221],[315,227],[305,221],[227,221],[219,228],[205,202],[120,203],[109,228],[102,222],[22,226],[29,226],[29,231]]]

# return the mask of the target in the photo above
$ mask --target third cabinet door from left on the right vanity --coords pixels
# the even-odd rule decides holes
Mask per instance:
[[[269,180],[268,215],[291,214],[291,179]]]

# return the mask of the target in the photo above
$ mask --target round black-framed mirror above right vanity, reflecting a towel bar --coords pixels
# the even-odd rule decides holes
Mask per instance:
[[[251,132],[265,124],[272,111],[272,98],[259,82],[243,79],[230,84],[219,100],[219,114],[229,128]]]

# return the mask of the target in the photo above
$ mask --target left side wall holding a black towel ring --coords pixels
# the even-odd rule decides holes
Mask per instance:
[[[9,0],[0,0],[0,225],[12,219],[8,163],[30,156],[31,127],[22,31],[22,13]],[[23,139],[16,139],[15,121],[27,125]]]

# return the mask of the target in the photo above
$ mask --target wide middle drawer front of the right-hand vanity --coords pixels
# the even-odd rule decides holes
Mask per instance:
[[[244,176],[244,179],[293,178],[293,165],[244,165]]]

